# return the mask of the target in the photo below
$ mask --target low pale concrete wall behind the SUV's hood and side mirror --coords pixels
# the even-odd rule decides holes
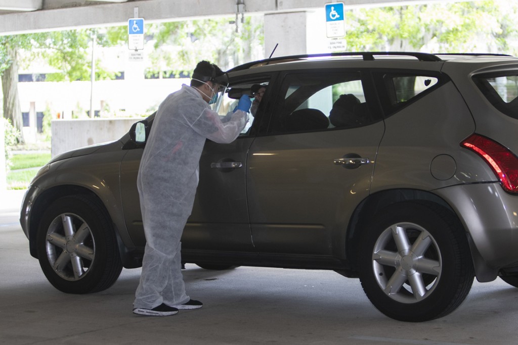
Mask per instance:
[[[141,118],[59,119],[52,121],[52,157],[71,149],[120,139]]]

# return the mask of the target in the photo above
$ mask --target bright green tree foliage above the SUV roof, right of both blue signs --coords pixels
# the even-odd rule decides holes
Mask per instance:
[[[518,2],[486,0],[346,11],[350,51],[516,55]]]

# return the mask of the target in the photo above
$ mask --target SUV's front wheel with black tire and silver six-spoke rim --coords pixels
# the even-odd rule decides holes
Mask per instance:
[[[54,201],[42,217],[36,241],[42,271],[62,292],[106,290],[122,271],[111,221],[93,198],[71,196]]]

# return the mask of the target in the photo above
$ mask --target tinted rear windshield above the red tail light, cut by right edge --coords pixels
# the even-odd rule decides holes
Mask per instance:
[[[518,72],[477,76],[474,81],[495,108],[518,118]]]

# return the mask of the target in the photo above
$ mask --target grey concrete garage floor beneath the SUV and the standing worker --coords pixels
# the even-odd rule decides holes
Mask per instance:
[[[185,283],[205,306],[175,316],[132,313],[140,269],[110,289],[55,290],[28,253],[18,223],[22,192],[0,198],[1,344],[516,344],[518,289],[497,279],[473,284],[465,303],[439,320],[386,318],[357,279],[334,272],[239,267],[211,272],[189,264]]]

